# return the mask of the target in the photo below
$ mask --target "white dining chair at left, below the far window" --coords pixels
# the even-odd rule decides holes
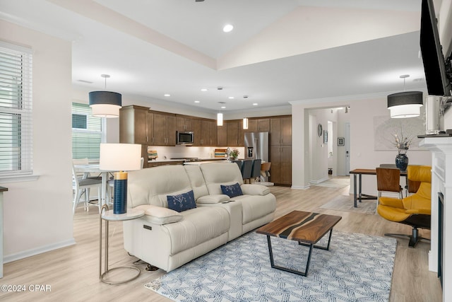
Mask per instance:
[[[88,211],[88,206],[94,205],[90,204],[90,189],[97,187],[97,207],[102,207],[102,202],[100,202],[102,180],[99,178],[78,178],[76,174],[76,168],[72,165],[72,190],[73,190],[73,209],[72,214],[76,213],[76,207],[80,203],[85,204],[85,211]],[[82,199],[82,196],[85,196]]]

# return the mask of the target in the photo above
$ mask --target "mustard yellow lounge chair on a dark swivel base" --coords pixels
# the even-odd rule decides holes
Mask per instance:
[[[430,229],[432,167],[408,165],[408,180],[420,182],[417,192],[403,199],[381,197],[377,211],[384,219],[412,226],[411,235],[386,233],[385,236],[408,237],[408,246],[415,248],[420,240],[425,239],[419,235],[418,228]]]

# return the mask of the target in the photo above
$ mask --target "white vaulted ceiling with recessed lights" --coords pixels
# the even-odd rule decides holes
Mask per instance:
[[[72,41],[74,88],[109,74],[107,90],[150,105],[235,112],[401,91],[401,74],[426,85],[420,0],[0,0],[0,18]]]

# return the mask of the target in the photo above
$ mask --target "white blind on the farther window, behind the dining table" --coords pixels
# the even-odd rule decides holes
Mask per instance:
[[[86,104],[72,103],[72,158],[99,159],[105,143],[105,119],[93,117]]]

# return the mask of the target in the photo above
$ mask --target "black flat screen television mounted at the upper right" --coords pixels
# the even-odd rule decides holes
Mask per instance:
[[[432,0],[422,0],[420,48],[429,95],[450,96],[451,81],[446,74]]]

